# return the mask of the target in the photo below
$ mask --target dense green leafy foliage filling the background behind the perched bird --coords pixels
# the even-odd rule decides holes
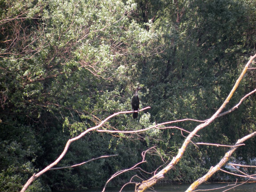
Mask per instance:
[[[59,156],[69,138],[114,112],[131,110],[139,85],[141,108],[151,109],[136,120],[119,115],[104,129],[209,118],[255,54],[255,9],[255,0],[1,1],[1,191],[20,190]],[[229,107],[255,88],[250,70]],[[255,131],[255,97],[217,119],[194,141],[234,144]],[[197,123],[176,125],[191,131]],[[103,186],[116,171],[141,161],[142,151],[152,146],[157,151],[147,154],[141,167],[154,172],[176,154],[184,136],[174,129],[138,135],[93,132],[73,143],[58,166],[118,156],[49,171],[28,191]],[[255,146],[255,140],[246,143],[234,159],[250,162]],[[224,153],[191,144],[166,181],[194,181]],[[127,172],[109,186],[126,183],[134,174]]]

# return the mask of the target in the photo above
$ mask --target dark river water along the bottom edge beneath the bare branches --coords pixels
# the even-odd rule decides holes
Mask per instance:
[[[232,191],[232,192],[256,192],[256,183],[205,183],[200,185],[197,188],[198,192],[222,192],[222,191]],[[236,186],[236,187],[235,187]],[[154,186],[153,190],[149,191],[156,191],[156,192],[184,192],[189,187],[189,184],[173,184],[173,185],[157,185]],[[231,189],[232,188],[232,189]],[[106,189],[106,192],[119,192],[121,187],[109,187]],[[228,190],[230,189],[230,190]],[[101,192],[101,189],[90,189],[90,190],[79,190],[79,191],[72,191],[72,192]],[[122,190],[122,192],[134,192],[134,187],[126,187]]]

